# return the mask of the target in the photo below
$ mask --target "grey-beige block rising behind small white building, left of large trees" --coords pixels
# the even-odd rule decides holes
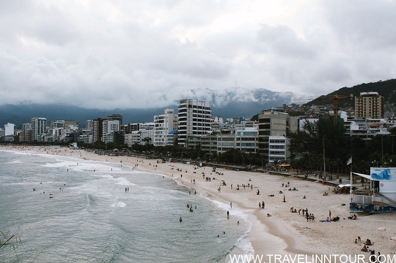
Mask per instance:
[[[297,117],[288,113],[265,112],[258,114],[258,151],[269,159],[270,136],[285,136],[287,131],[297,131]]]

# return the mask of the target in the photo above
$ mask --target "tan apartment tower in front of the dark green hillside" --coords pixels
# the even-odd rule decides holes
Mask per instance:
[[[355,116],[380,119],[384,117],[384,97],[378,92],[360,92],[355,97]]]

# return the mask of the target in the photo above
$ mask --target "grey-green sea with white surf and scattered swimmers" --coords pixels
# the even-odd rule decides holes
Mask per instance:
[[[0,230],[22,241],[17,256],[1,248],[0,262],[229,262],[253,252],[241,209],[227,219],[228,204],[190,195],[172,178],[5,150],[0,165]]]

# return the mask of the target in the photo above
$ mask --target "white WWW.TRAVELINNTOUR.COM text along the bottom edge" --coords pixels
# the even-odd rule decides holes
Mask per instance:
[[[229,255],[231,263],[396,263],[393,255]]]

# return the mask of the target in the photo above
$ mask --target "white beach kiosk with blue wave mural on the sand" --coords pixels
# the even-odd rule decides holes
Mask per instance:
[[[370,188],[350,191],[351,211],[396,212],[396,167],[371,167],[370,175],[353,174],[370,180]]]

